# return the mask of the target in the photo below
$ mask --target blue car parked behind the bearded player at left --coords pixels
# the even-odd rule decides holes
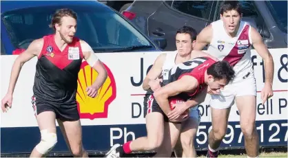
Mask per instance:
[[[95,52],[157,51],[165,47],[163,38],[150,40],[123,15],[98,1],[1,1],[1,54],[17,53],[34,39],[52,34],[48,25],[59,8],[71,8],[78,14],[76,36]]]

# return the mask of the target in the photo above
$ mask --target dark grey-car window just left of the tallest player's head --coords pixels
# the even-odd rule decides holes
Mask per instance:
[[[213,1],[173,1],[172,8],[192,16],[209,20],[212,3]]]

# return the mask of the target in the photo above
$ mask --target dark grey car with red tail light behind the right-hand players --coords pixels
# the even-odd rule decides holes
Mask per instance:
[[[175,50],[175,33],[189,25],[200,32],[220,19],[221,1],[134,1],[123,15],[147,36],[167,39],[165,50]],[[269,48],[287,47],[287,1],[240,1],[243,21],[251,23]]]

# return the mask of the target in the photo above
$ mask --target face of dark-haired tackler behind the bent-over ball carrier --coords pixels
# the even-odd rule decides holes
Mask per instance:
[[[190,54],[196,41],[192,42],[189,34],[176,34],[176,47],[178,54]]]

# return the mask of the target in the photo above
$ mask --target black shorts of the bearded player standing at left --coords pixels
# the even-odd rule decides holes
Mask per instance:
[[[37,100],[35,96],[33,96],[31,99],[35,116],[44,111],[53,111],[56,114],[56,119],[61,121],[76,121],[80,119],[77,104],[61,104]]]

